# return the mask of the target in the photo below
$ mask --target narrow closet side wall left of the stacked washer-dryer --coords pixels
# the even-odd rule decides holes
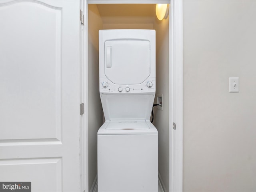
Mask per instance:
[[[88,187],[97,174],[97,132],[103,124],[99,87],[99,36],[102,20],[96,5],[88,6]]]

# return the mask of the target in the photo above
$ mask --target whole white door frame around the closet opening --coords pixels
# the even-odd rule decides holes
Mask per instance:
[[[84,21],[88,4],[170,4],[169,19],[169,176],[170,192],[181,192],[183,185],[183,0],[80,0]],[[81,25],[81,103],[85,103],[80,122],[82,192],[88,189],[88,24]],[[176,130],[173,128],[176,124]]]

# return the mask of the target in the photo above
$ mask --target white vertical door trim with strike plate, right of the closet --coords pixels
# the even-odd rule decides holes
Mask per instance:
[[[170,191],[183,185],[183,12],[182,0],[171,0],[170,43]],[[175,122],[176,130],[172,128]]]

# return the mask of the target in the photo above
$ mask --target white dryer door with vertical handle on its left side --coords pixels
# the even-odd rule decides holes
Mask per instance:
[[[105,42],[105,75],[114,84],[141,84],[150,75],[150,42]]]

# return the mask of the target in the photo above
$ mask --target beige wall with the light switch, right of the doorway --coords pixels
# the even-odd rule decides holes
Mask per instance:
[[[183,22],[184,192],[255,192],[256,1],[184,0]]]

